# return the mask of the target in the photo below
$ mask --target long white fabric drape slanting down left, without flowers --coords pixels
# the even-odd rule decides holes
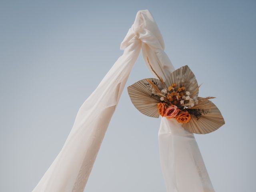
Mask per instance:
[[[82,192],[92,170],[108,124],[116,109],[132,66],[141,49],[141,40],[151,38],[151,16],[139,11],[128,31],[118,58],[96,90],[82,104],[74,126],[56,159],[33,192]]]

